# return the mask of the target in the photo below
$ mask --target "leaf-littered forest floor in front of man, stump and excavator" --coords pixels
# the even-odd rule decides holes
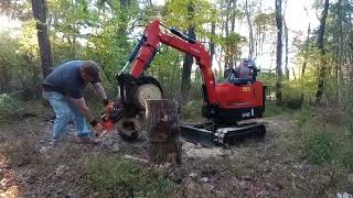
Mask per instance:
[[[38,106],[25,110],[26,113],[19,117],[21,120],[0,123],[0,197],[150,195],[133,193],[143,186],[135,186],[130,178],[128,182],[118,178],[120,182],[116,183],[129,189],[107,188],[104,185],[111,184],[105,182],[97,184],[105,178],[87,176],[95,170],[99,173],[99,166],[106,168],[107,161],[97,158],[115,158],[138,163],[147,169],[160,169],[171,186],[163,197],[336,197],[338,194],[353,193],[353,175],[334,175],[330,168],[317,167],[297,155],[298,151],[291,145],[295,144],[292,134],[299,128],[290,114],[259,120],[267,127],[265,140],[248,140],[227,150],[205,148],[183,141],[182,164],[157,167],[143,162],[148,147],[143,135],[138,142],[129,143],[113,132],[99,145],[85,145],[71,141],[74,136],[71,125],[63,143],[50,148],[52,111]],[[96,166],[92,165],[94,163]],[[121,164],[117,166],[126,168]],[[124,190],[130,193],[120,194]]]

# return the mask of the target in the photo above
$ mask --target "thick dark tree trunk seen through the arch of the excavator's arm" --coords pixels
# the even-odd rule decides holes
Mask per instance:
[[[188,6],[188,11],[190,13],[189,20],[192,20],[194,14],[193,3]],[[196,38],[195,28],[193,24],[189,26],[188,35],[191,38],[194,38],[194,40]],[[181,79],[181,91],[182,91],[182,98],[184,99],[183,101],[185,101],[185,99],[189,96],[192,64],[193,64],[193,56],[190,54],[185,54],[183,70],[182,70],[182,79]]]

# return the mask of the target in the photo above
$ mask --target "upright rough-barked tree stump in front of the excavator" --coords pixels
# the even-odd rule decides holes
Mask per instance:
[[[178,105],[172,100],[147,100],[146,124],[151,162],[181,163]]]

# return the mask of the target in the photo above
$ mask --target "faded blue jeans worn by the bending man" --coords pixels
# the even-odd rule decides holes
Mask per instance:
[[[71,117],[75,121],[77,136],[89,135],[89,128],[86,119],[66,96],[55,91],[44,91],[43,98],[49,100],[56,117],[53,125],[53,141],[60,140],[66,132]]]

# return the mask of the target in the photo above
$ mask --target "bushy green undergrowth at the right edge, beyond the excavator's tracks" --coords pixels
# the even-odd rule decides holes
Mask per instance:
[[[353,170],[353,136],[340,122],[330,122],[329,112],[323,114],[312,107],[293,114],[300,131],[293,134],[300,155],[313,164]],[[330,117],[329,117],[330,118]]]

